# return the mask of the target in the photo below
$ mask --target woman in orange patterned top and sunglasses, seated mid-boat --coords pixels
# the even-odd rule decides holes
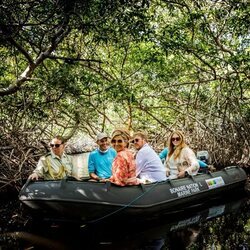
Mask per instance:
[[[111,144],[117,155],[112,164],[110,181],[119,186],[138,185],[134,156],[128,149],[130,135],[125,130],[115,130]]]

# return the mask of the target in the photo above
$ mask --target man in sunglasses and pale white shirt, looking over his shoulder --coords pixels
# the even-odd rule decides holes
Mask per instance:
[[[144,183],[166,180],[166,170],[157,153],[147,143],[147,136],[136,132],[131,141],[138,150],[136,154],[136,176]]]

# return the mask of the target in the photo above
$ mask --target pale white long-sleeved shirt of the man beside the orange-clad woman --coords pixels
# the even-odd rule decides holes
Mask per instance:
[[[143,183],[166,180],[166,171],[157,153],[146,143],[136,155],[136,176]]]

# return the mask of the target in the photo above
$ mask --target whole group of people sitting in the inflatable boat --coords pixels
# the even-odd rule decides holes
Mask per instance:
[[[195,153],[178,130],[170,134],[168,148],[159,155],[143,132],[131,136],[124,129],[116,129],[111,137],[106,133],[97,134],[96,143],[98,148],[88,159],[90,181],[110,181],[119,186],[147,184],[196,175],[200,167]],[[53,138],[50,148],[51,152],[39,159],[29,179],[61,179],[72,174],[72,159],[64,152],[64,138]]]

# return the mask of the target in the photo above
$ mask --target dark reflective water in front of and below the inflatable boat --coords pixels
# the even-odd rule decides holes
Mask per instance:
[[[0,249],[250,249],[250,199],[209,201],[144,220],[78,224],[11,216],[1,206]],[[16,203],[16,204],[15,204]],[[7,204],[7,203],[6,203]],[[6,211],[7,209],[7,211]]]

